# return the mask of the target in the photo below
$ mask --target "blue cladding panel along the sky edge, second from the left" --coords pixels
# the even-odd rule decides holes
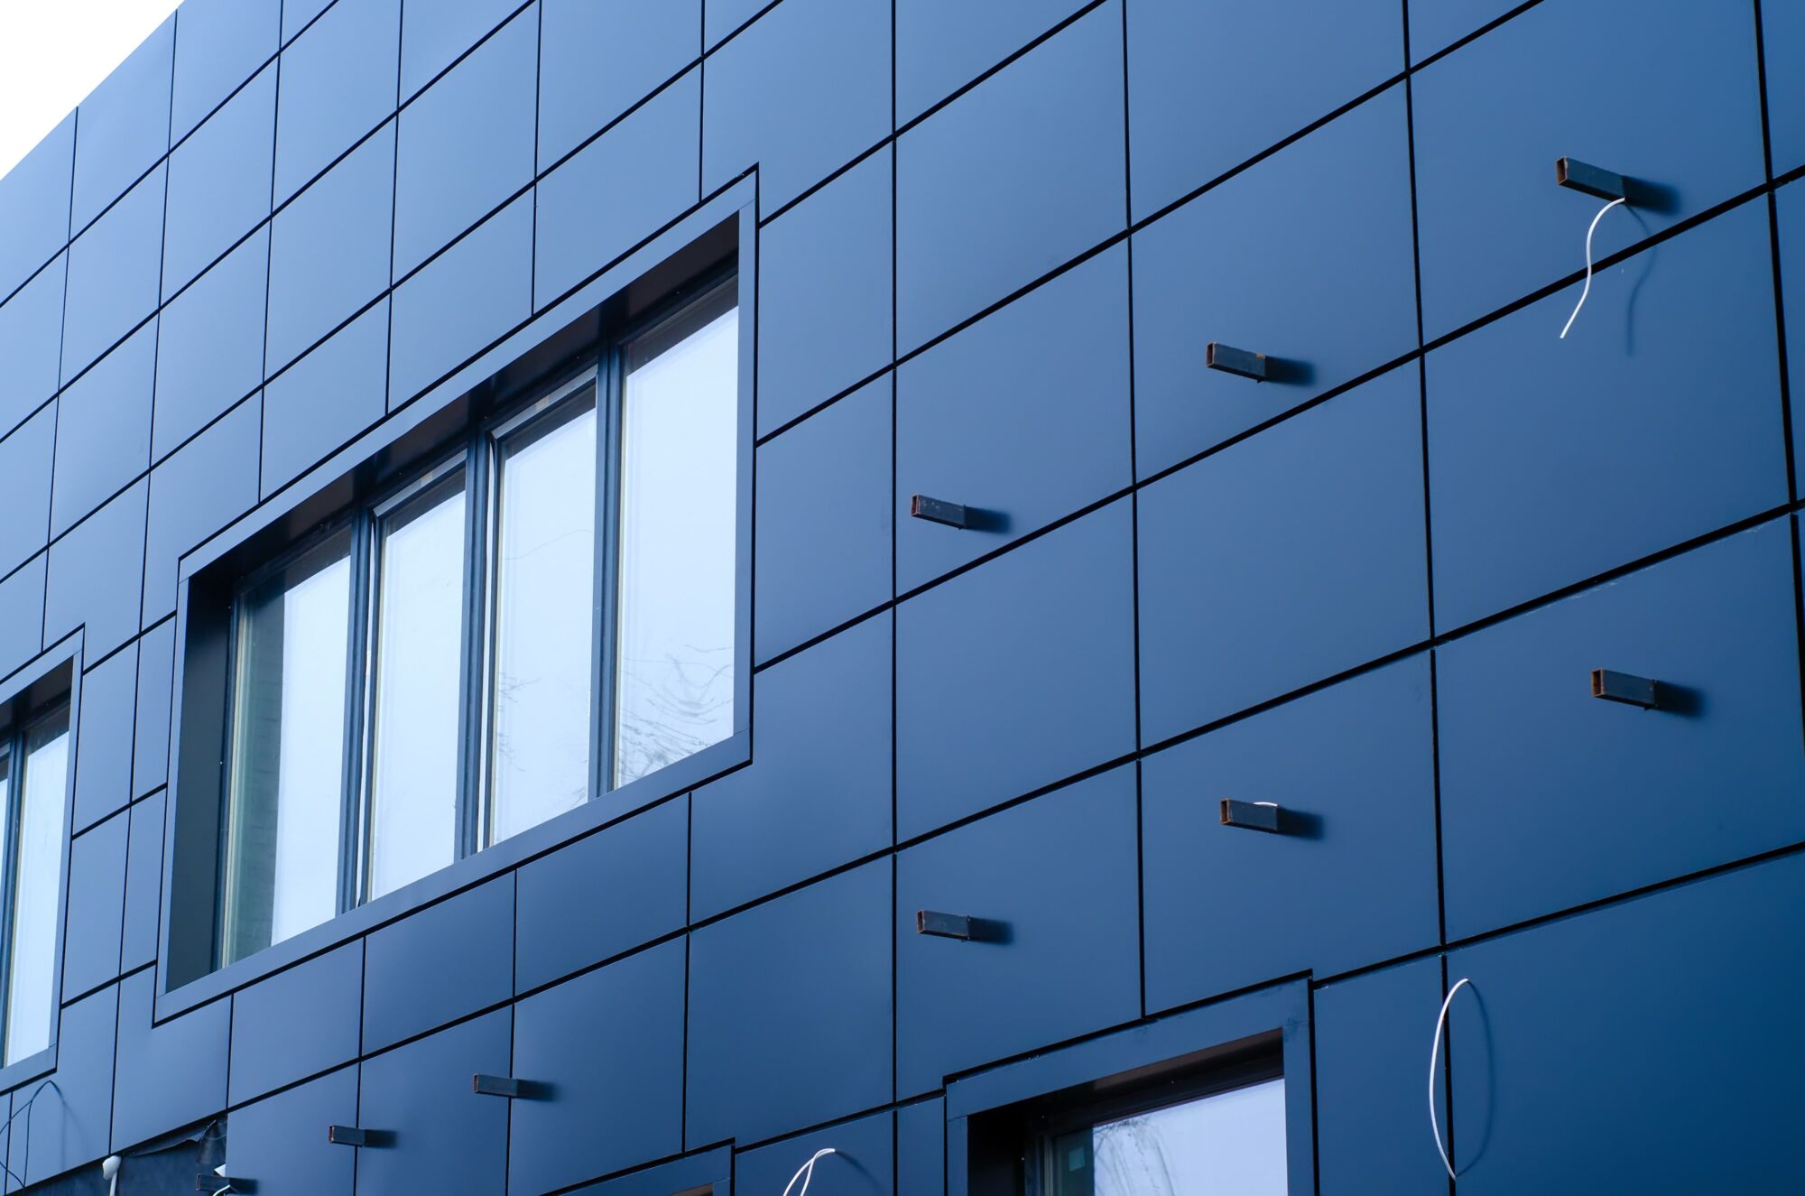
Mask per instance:
[[[72,233],[87,228],[170,150],[173,67],[171,16],[81,101],[76,117]]]

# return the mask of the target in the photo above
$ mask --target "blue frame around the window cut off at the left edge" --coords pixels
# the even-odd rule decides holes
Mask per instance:
[[[81,665],[83,636],[79,631],[58,641],[32,661],[22,665],[13,674],[0,677],[0,755],[7,759],[5,842],[0,844],[0,1046],[5,1042],[7,1001],[5,990],[11,983],[13,968],[13,867],[14,846],[20,818],[20,761],[22,746],[29,733],[47,717],[67,712],[69,755],[61,786],[61,826],[58,827],[58,882],[56,882],[56,930],[51,968],[51,1024],[45,1033],[45,1046],[31,1055],[5,1061],[0,1051],[0,1088],[16,1088],[56,1070],[58,1039],[63,1008],[63,950],[69,925],[69,865],[74,840],[76,811],[76,750],[79,746],[81,724]]]

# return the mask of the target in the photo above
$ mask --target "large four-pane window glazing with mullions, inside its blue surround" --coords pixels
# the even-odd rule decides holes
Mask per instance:
[[[735,294],[236,584],[217,965],[733,733]]]

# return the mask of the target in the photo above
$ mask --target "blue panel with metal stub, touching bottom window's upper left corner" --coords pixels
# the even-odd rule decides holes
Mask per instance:
[[[1134,766],[902,851],[897,1095],[1139,1017],[1135,865]],[[966,941],[917,934],[917,911],[986,929]]]

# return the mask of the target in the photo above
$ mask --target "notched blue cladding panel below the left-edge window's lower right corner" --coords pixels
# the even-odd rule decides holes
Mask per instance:
[[[148,976],[148,974],[146,974]],[[114,1032],[119,1021],[119,986],[103,988],[61,1012],[56,1032],[56,1075],[34,1080],[14,1093],[18,1133],[7,1142],[13,1174],[25,1183],[110,1153],[106,1126],[114,1106]],[[99,1171],[96,1169],[96,1174]],[[11,1191],[18,1191],[11,1187]]]

